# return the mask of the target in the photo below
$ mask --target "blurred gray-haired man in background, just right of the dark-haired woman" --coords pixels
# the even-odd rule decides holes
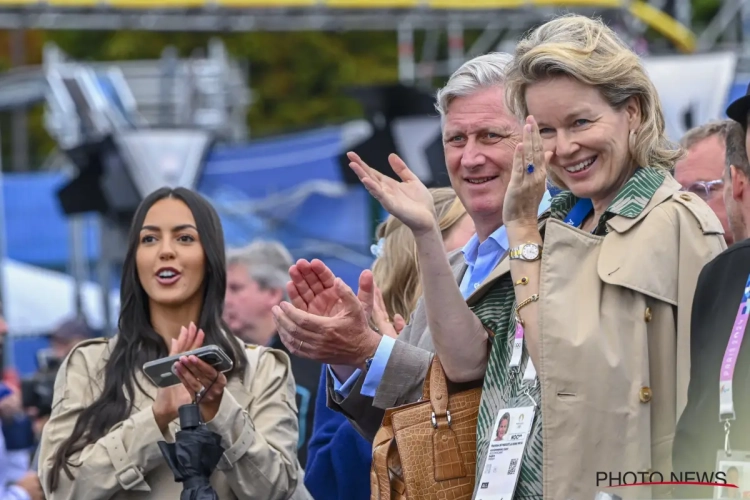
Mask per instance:
[[[232,249],[227,255],[227,293],[224,321],[245,342],[289,350],[279,340],[271,309],[287,298],[286,283],[292,256],[275,241],[255,241]],[[312,434],[315,396],[318,392],[321,364],[289,356],[297,382],[299,409],[298,456],[302,467],[307,462],[307,442]]]

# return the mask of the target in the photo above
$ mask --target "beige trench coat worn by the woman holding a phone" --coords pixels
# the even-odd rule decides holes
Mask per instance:
[[[52,416],[44,428],[39,473],[48,500],[177,499],[176,483],[159,451],[164,441],[154,420],[152,399],[137,391],[130,418],[73,456],[74,480],[61,471],[60,484],[47,487],[53,454],[71,434],[82,409],[101,391],[102,369],[114,339],[79,344],[66,358],[55,383]],[[297,461],[298,421],[289,358],[281,351],[248,346],[244,380],[227,384],[216,417],[208,427],[222,436],[224,456],[211,484],[222,500],[309,498]],[[142,374],[141,386],[151,398],[156,387]],[[174,442],[178,420],[166,440]]]

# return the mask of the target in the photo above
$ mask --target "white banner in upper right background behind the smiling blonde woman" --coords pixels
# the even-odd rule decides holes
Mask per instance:
[[[643,62],[659,92],[670,139],[677,142],[690,128],[724,116],[735,53],[646,57]]]

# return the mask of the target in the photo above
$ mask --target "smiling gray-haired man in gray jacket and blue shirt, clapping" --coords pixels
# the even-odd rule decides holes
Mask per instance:
[[[513,151],[521,138],[517,118],[504,105],[505,68],[510,60],[508,54],[494,53],[467,61],[437,94],[448,175],[477,229],[462,252],[450,256],[456,292],[470,303],[495,279],[491,273],[510,249],[503,201]],[[548,207],[545,197],[540,213]],[[314,261],[310,268],[320,285],[313,288],[292,274],[300,298],[275,309],[281,338],[295,354],[331,366],[329,407],[372,440],[386,408],[421,397],[434,339],[442,332],[431,330],[425,302],[420,300],[398,339],[381,337],[368,326],[363,308],[346,287],[337,288],[337,296],[328,294],[341,299],[343,312],[310,314],[307,306],[313,301],[328,305],[324,287],[334,283],[330,269],[321,262]]]

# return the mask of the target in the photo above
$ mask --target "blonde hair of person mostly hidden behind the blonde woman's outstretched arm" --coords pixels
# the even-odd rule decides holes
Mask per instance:
[[[435,188],[430,192],[440,232],[445,239],[451,228],[466,215],[466,209],[452,188]],[[380,256],[372,266],[375,283],[383,293],[388,316],[392,318],[400,314],[408,321],[422,295],[414,235],[392,215],[378,226],[376,235],[384,241]]]

